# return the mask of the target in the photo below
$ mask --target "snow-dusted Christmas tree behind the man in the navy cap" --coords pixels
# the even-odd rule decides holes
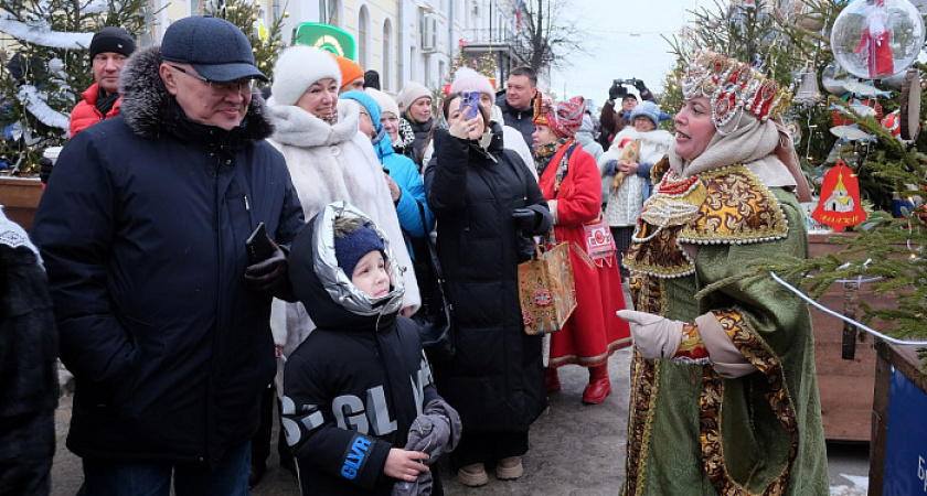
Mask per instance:
[[[0,0],[0,169],[36,169],[42,151],[67,139],[71,109],[94,83],[87,47],[108,25],[132,34],[146,25],[145,0]]]

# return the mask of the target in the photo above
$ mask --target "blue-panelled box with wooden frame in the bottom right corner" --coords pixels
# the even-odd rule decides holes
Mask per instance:
[[[927,370],[916,348],[875,346],[870,496],[927,494]]]

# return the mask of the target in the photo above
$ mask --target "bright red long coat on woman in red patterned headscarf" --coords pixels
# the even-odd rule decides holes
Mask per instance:
[[[557,169],[566,151],[574,147],[567,162],[567,173],[556,193]],[[583,151],[575,140],[561,147],[539,180],[541,193],[551,204],[554,215],[554,236],[557,242],[575,242],[586,247],[584,224],[599,218],[601,209],[601,179],[593,155]],[[556,201],[556,206],[552,201]],[[586,258],[571,250],[576,281],[576,310],[566,325],[551,336],[551,367],[579,364],[584,367],[605,365],[618,348],[631,344],[628,323],[615,312],[625,310],[621,274],[615,256],[601,260],[601,267],[589,266]]]

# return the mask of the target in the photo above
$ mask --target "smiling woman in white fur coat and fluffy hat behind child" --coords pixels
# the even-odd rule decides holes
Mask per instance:
[[[396,207],[370,138],[359,132],[360,107],[339,101],[340,87],[341,71],[328,52],[310,46],[285,50],[274,66],[273,96],[267,100],[276,128],[267,141],[284,154],[307,220],[341,200],[383,229],[395,261],[408,268],[403,313],[411,315],[420,299]],[[316,326],[301,303],[275,300],[270,327],[288,356]]]

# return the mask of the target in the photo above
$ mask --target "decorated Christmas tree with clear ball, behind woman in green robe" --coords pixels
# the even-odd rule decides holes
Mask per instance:
[[[825,172],[843,161],[870,214],[852,228],[855,237],[842,240],[840,257],[778,259],[757,271],[808,274],[805,289],[814,296],[840,281],[867,278],[876,293],[895,294],[897,305],[876,310],[863,301],[863,322],[881,319],[889,334],[923,339],[927,139],[918,133],[925,67],[914,63],[906,71],[924,46],[923,12],[913,9],[906,0],[757,0],[693,12],[695,21],[669,40],[678,65],[661,104],[669,110],[682,104],[679,77],[696,47],[752,61],[791,87],[784,123],[795,131],[812,185],[821,194]]]

